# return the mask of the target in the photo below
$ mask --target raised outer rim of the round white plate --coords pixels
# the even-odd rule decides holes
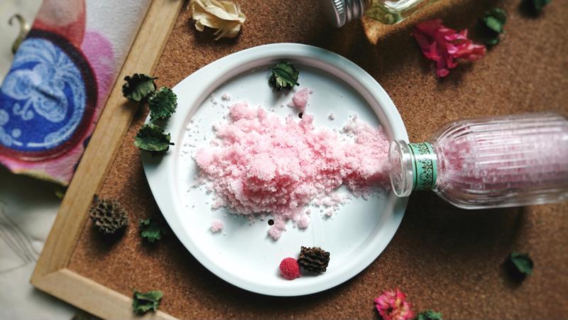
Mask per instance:
[[[243,69],[246,69],[247,64],[255,63],[258,60],[271,58],[273,60],[282,60],[288,58],[289,60],[294,60],[294,58],[307,58],[313,61],[318,61],[323,63],[324,65],[330,66],[332,68],[336,68],[338,73],[344,73],[350,77],[350,79],[343,79],[346,81],[346,84],[349,87],[354,87],[353,83],[349,82],[356,82],[355,84],[359,87],[366,90],[366,92],[361,92],[361,90],[356,90],[356,92],[361,95],[366,102],[371,105],[369,99],[374,100],[379,105],[380,112],[383,113],[383,117],[386,117],[389,123],[390,129],[393,132],[389,132],[389,137],[391,139],[403,139],[408,142],[408,134],[405,129],[405,125],[403,123],[400,114],[398,113],[397,108],[395,107],[394,103],[391,100],[391,97],[388,96],[386,91],[381,87],[378,82],[371,77],[364,69],[356,65],[355,63],[351,62],[341,55],[337,53],[333,53],[329,50],[325,50],[323,48],[309,46],[300,43],[273,43],[263,46],[256,46],[252,48],[248,48],[245,50],[241,50],[236,53],[232,53],[231,55],[226,55],[223,58],[213,61],[208,65],[205,65],[203,68],[195,71],[191,75],[188,75],[186,78],[178,82],[177,85],[173,87],[173,91],[178,95],[178,100],[190,100],[191,104],[183,105],[178,101],[178,113],[177,117],[174,116],[170,119],[169,122],[165,123],[164,129],[166,132],[171,132],[174,139],[173,142],[179,142],[182,140],[181,137],[175,137],[174,134],[179,134],[180,132],[185,132],[185,125],[187,121],[193,116],[195,110],[199,108],[195,108],[195,105],[202,105],[204,100],[209,97],[211,91],[215,91],[219,85],[222,85],[227,80],[234,78],[234,76],[243,73]],[[236,66],[240,66],[239,68],[235,68]],[[311,65],[312,68],[319,68],[316,65]],[[254,68],[258,68],[254,67]],[[321,69],[321,68],[319,68]],[[324,70],[325,72],[329,73],[329,70]],[[213,75],[212,75],[213,74]],[[337,76],[337,75],[336,75]],[[186,94],[184,92],[183,96],[180,96],[180,87],[184,86],[187,82],[195,81],[197,78],[200,79],[200,87],[204,88],[202,92],[199,90],[195,90],[197,92],[191,92]],[[180,99],[180,97],[183,97]],[[184,102],[185,103],[185,102]],[[373,112],[376,114],[381,120],[381,115],[378,114],[378,110],[375,107],[372,107]],[[183,111],[182,111],[183,110]],[[184,114],[184,116],[180,116],[180,113]],[[149,116],[146,118],[146,122],[149,122]],[[380,121],[383,124],[382,121]],[[173,146],[172,148],[175,148]],[[178,214],[175,213],[176,211],[179,212],[180,208],[178,207],[179,202],[177,199],[177,195],[179,194],[177,190],[172,186],[175,184],[173,181],[173,171],[175,171],[175,151],[172,152],[171,150],[161,157],[151,157],[146,152],[141,152],[142,163],[143,163],[143,170],[146,174],[146,179],[148,180],[148,185],[151,188],[151,192],[155,198],[156,203],[158,204],[158,208],[165,218],[170,228],[173,230],[175,236],[182,242],[182,245],[189,251],[189,253],[195,257],[195,259],[200,262],[209,272],[212,272],[217,277],[224,279],[224,281],[229,282],[229,284],[233,284],[236,287],[240,287],[241,289],[245,289],[250,292],[255,292],[258,294],[265,294],[269,296],[275,297],[294,297],[294,296],[302,296],[306,294],[315,294],[317,292],[322,292],[327,289],[331,289],[332,287],[336,287],[339,284],[346,282],[347,280],[355,277],[361,271],[366,269],[368,265],[376,260],[376,258],[381,255],[381,253],[385,250],[386,246],[389,242],[391,242],[392,238],[394,237],[398,227],[403,219],[403,215],[405,212],[406,204],[408,203],[408,198],[398,198],[394,195],[393,192],[388,193],[388,199],[386,200],[385,211],[390,210],[392,213],[392,218],[388,220],[391,223],[389,228],[391,228],[392,232],[388,232],[387,235],[381,237],[375,236],[375,241],[371,241],[371,245],[374,244],[376,247],[371,247],[369,245],[365,248],[364,251],[358,252],[359,260],[354,259],[353,261],[357,262],[352,263],[355,264],[353,267],[346,269],[347,272],[342,272],[335,277],[329,279],[324,282],[317,282],[315,284],[307,284],[305,286],[291,286],[291,287],[272,287],[258,284],[258,282],[253,282],[245,279],[241,279],[239,277],[234,277],[233,274],[226,272],[223,267],[220,267],[212,260],[207,257],[207,254],[200,250],[200,247],[195,244],[191,240],[191,238],[187,235],[187,231],[185,228],[182,228],[182,222],[178,217]],[[387,212],[387,211],[386,211]],[[386,220],[386,215],[383,215],[383,220]],[[382,240],[382,241],[381,241]]]

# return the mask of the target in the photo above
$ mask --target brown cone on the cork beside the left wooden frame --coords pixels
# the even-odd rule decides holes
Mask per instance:
[[[105,235],[116,233],[117,230],[129,224],[129,216],[121,208],[118,201],[107,201],[98,198],[95,201],[97,202],[92,206],[89,216],[100,233]]]

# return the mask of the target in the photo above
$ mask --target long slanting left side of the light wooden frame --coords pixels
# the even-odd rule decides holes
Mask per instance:
[[[122,97],[121,80],[132,73],[152,73],[157,65],[165,43],[168,41],[184,1],[154,0],[146,18],[126,57],[123,68],[111,90],[102,111],[97,127],[94,129],[89,146],[85,150],[75,176],[63,198],[55,223],[35,266],[31,277],[33,285],[45,282],[44,277],[65,269],[70,262],[72,251],[77,245],[80,233],[87,220],[92,198],[106,178],[110,165],[119,150],[122,138],[128,130],[136,105],[131,105]],[[148,46],[151,43],[151,46]],[[54,283],[54,286],[58,284]],[[58,289],[42,285],[40,289],[63,294]],[[73,297],[67,299],[72,302]]]

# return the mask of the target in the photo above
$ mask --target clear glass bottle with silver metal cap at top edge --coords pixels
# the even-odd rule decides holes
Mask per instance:
[[[320,0],[324,14],[337,28],[368,16],[381,23],[395,24],[437,0]]]

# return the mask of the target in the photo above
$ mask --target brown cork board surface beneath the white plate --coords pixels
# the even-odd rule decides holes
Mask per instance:
[[[568,1],[554,0],[537,17],[519,0],[447,0],[398,26],[364,20],[330,28],[316,1],[239,0],[247,21],[238,38],[212,41],[182,11],[155,75],[173,86],[207,63],[265,43],[307,43],[361,65],[391,95],[411,141],[427,139],[451,119],[556,110],[568,114]],[[293,3],[293,5],[292,5]],[[441,17],[469,28],[486,9],[508,11],[502,43],[485,58],[460,65],[438,80],[410,30],[417,20]],[[149,44],[151,45],[151,44]],[[444,319],[561,319],[568,314],[568,203],[498,210],[460,210],[434,193],[416,193],[390,245],[366,270],[334,289],[307,297],[246,292],[200,265],[169,233],[141,242],[138,218],[159,216],[132,139],[134,119],[99,191],[129,211],[131,223],[114,241],[87,222],[69,268],[126,295],[134,288],[165,293],[160,309],[184,319],[378,319],[373,298],[398,287],[415,311],[435,309]],[[511,250],[530,252],[535,274],[523,283],[506,273]],[[104,307],[104,306],[101,306]]]

